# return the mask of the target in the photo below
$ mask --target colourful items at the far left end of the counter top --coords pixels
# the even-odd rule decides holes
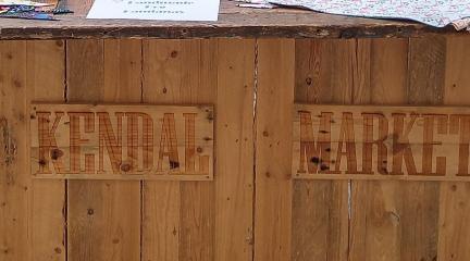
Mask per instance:
[[[0,0],[0,17],[24,20],[57,20],[57,14],[73,13],[69,9],[55,8],[57,4],[40,3],[25,0]]]

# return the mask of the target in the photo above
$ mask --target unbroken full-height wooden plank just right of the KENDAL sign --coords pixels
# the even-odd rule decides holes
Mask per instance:
[[[214,260],[252,260],[255,40],[220,39]]]

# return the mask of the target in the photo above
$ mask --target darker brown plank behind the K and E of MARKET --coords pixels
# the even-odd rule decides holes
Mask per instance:
[[[443,102],[445,38],[425,37],[409,40],[408,103],[438,105]],[[401,259],[437,258],[437,219],[440,184],[407,182],[403,190]]]

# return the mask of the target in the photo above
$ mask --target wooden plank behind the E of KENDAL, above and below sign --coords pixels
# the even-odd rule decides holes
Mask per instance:
[[[66,45],[67,100],[100,101],[103,92],[102,40],[67,40]],[[97,184],[67,181],[67,258],[71,261],[100,260],[103,253],[104,238],[96,231],[104,227],[102,200],[99,187],[94,185]]]

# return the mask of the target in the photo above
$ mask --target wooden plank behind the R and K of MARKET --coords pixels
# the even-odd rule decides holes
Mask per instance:
[[[370,71],[370,85],[355,90],[355,103],[403,104],[408,39],[372,40],[368,60],[358,69],[370,67],[359,70]],[[350,260],[403,260],[400,196],[400,182],[351,181]]]

